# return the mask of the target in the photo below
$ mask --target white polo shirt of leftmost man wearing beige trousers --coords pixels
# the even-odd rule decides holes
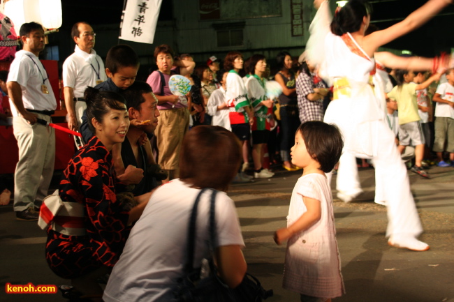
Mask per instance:
[[[6,82],[20,84],[25,109],[51,111],[57,108],[54,91],[52,91],[43,63],[33,53],[25,50],[16,52]],[[47,87],[49,93],[43,93],[43,84]],[[11,100],[10,105],[13,116],[18,116]]]

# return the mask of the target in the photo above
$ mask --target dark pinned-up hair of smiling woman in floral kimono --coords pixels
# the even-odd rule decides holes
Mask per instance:
[[[91,119],[102,123],[104,115],[113,110],[125,110],[126,100],[123,96],[112,91],[99,91],[93,87],[87,87],[84,92],[85,103],[87,103],[88,126],[92,133],[96,133]]]

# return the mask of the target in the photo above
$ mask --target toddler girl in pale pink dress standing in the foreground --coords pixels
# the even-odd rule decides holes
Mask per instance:
[[[344,294],[331,188],[325,173],[339,161],[344,143],[339,129],[322,121],[302,123],[291,149],[292,164],[304,172],[292,192],[287,227],[274,233],[288,239],[283,287],[301,301],[324,302]]]

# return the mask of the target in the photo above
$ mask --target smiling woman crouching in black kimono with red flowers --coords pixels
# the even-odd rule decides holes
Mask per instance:
[[[96,135],[75,153],[59,185],[61,201],[83,210],[53,218],[45,256],[54,273],[71,279],[73,287],[93,301],[101,301],[103,292],[96,279],[119,259],[129,226],[138,220],[150,195],[136,197],[138,206],[130,210],[117,200],[110,151],[124,141],[129,128],[124,98],[89,87],[85,100],[89,127]]]

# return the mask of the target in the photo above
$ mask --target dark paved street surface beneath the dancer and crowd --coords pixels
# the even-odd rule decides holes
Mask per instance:
[[[388,246],[386,208],[373,202],[373,169],[360,169],[365,192],[358,199],[349,204],[335,199],[337,241],[347,293],[333,301],[454,302],[454,168],[432,167],[429,172],[430,180],[409,175],[425,229],[420,239],[431,246],[427,252]],[[274,289],[274,297],[268,301],[299,301],[298,294],[281,288],[285,246],[276,246],[272,234],[286,225],[291,191],[300,174],[277,169],[270,180],[236,184],[228,193],[240,216],[249,272],[263,287]],[[7,282],[68,284],[48,269],[45,239],[45,232],[35,222],[17,221],[11,205],[0,207],[2,287]],[[7,295],[2,290],[0,301],[65,300],[61,294]]]

